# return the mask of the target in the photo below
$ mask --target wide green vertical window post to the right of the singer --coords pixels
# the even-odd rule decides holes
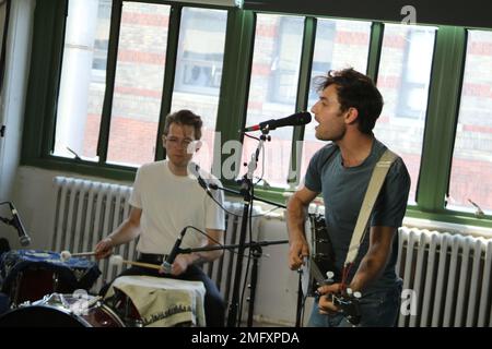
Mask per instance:
[[[459,109],[466,31],[437,31],[417,202],[426,212],[444,209]]]

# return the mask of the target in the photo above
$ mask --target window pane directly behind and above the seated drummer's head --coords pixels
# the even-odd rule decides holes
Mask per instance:
[[[194,161],[208,170],[213,160],[226,22],[226,11],[185,8],[179,31],[171,109],[190,109],[202,117],[202,147]]]

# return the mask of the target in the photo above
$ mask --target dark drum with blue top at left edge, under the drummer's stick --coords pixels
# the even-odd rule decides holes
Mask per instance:
[[[1,291],[9,294],[14,306],[51,292],[89,290],[101,275],[95,262],[80,257],[62,262],[57,252],[36,250],[4,253],[0,273],[4,278]]]

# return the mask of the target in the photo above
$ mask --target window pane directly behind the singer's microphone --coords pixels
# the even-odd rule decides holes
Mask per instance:
[[[286,23],[283,24],[282,23]],[[288,117],[295,112],[304,19],[258,14],[246,124]],[[285,186],[292,147],[292,128],[270,133],[255,176]],[[257,142],[245,137],[243,160],[249,161]],[[265,163],[265,166],[263,166]]]

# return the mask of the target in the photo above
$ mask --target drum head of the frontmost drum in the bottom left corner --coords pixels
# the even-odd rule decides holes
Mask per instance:
[[[87,323],[70,313],[45,305],[14,309],[0,316],[0,327],[87,327]]]

